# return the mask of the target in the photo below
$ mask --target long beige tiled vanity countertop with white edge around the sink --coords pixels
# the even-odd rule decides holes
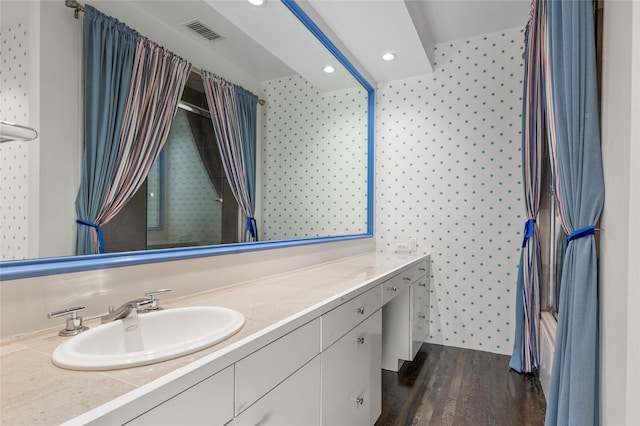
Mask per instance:
[[[232,308],[245,316],[245,325],[210,348],[157,364],[102,372],[58,368],[51,353],[65,339],[57,334],[62,323],[6,341],[0,345],[0,423],[60,424],[205,363],[223,368],[423,257],[368,253],[163,301],[165,308]],[[99,319],[85,324],[98,326]]]

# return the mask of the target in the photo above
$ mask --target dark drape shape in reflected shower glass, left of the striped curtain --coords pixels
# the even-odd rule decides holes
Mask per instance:
[[[222,197],[223,166],[211,121],[198,114],[185,112],[200,160],[219,197]]]

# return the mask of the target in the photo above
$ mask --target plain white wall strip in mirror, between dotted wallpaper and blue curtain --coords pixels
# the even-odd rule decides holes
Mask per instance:
[[[75,253],[80,186],[82,26],[58,2],[40,5],[39,255]]]

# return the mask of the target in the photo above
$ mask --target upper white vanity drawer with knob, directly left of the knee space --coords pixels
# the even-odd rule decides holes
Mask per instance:
[[[380,286],[357,296],[322,316],[322,350],[380,309]]]

